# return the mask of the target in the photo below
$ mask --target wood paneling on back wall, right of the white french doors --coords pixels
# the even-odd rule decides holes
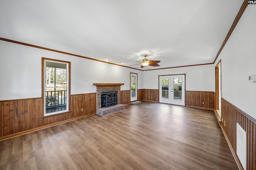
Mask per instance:
[[[214,109],[214,92],[186,91],[186,106]]]

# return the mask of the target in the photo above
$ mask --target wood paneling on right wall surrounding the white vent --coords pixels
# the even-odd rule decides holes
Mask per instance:
[[[246,113],[230,104],[228,101],[221,99],[221,123],[222,129],[228,138],[232,147],[233,154],[236,156],[236,123],[246,131],[247,134],[247,170],[256,169],[256,120]],[[238,157],[236,156],[237,160]],[[238,160],[239,162],[239,160]],[[240,162],[239,162],[240,163]],[[241,164],[240,164],[241,166]],[[242,167],[242,166],[241,166]]]

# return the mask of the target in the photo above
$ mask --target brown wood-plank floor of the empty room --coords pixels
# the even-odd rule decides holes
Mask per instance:
[[[238,168],[213,111],[142,102],[0,141],[0,169]]]

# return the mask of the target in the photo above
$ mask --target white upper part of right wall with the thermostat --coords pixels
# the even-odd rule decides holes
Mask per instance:
[[[221,59],[222,98],[256,119],[256,5],[248,5],[216,63]]]

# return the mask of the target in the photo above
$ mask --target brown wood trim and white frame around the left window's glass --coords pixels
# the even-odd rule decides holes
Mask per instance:
[[[66,74],[67,74],[67,78],[66,78],[66,98],[67,98],[67,102],[66,102],[66,110],[63,110],[63,111],[57,111],[57,112],[52,112],[52,113],[45,113],[46,111],[46,107],[45,107],[45,100],[46,100],[46,96],[45,96],[45,83],[46,83],[46,80],[45,80],[45,74],[46,74],[46,61],[49,61],[49,62],[56,62],[56,63],[64,63],[67,65],[67,71],[66,71]],[[41,117],[52,117],[52,116],[56,116],[56,115],[61,115],[61,114],[64,114],[64,113],[68,113],[70,112],[70,62],[69,61],[62,61],[62,60],[57,60],[57,59],[50,59],[50,58],[44,58],[42,57],[42,115]]]

